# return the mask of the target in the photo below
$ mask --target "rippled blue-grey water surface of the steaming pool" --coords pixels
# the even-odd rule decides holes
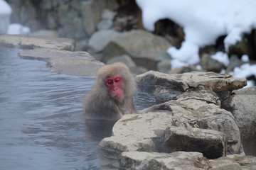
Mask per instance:
[[[111,129],[88,128],[82,117],[82,98],[95,77],[49,72],[46,62],[23,60],[18,51],[0,47],[0,169],[117,166],[97,149]],[[139,92],[134,103],[140,109],[155,101]]]

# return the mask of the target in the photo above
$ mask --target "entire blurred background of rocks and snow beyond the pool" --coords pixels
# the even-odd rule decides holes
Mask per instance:
[[[72,38],[76,50],[106,64],[124,62],[134,74],[151,69],[218,72],[255,86],[256,6],[250,0],[0,1],[4,3],[0,17],[9,27],[4,30],[0,23],[1,33]],[[8,6],[11,12],[4,10]]]

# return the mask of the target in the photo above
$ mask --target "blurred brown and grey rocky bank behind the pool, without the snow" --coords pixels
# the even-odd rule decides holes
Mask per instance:
[[[90,52],[105,64],[124,62],[135,74],[149,70],[229,74],[235,67],[245,63],[255,64],[256,60],[254,29],[245,33],[242,40],[230,47],[230,64],[225,65],[211,57],[217,52],[225,51],[223,35],[213,45],[201,47],[200,62],[174,69],[177,66],[171,65],[172,56],[166,53],[166,49],[181,47],[185,38],[182,26],[163,18],[155,23],[154,32],[146,31],[142,24],[142,11],[135,0],[8,0],[8,3],[13,10],[11,23],[28,26],[31,28],[31,35],[72,38],[77,42],[77,50]],[[247,55],[250,61],[242,60],[242,55]],[[256,82],[255,76],[248,76],[247,79]]]

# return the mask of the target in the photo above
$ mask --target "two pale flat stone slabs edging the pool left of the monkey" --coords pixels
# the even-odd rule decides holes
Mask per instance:
[[[75,76],[95,76],[104,64],[88,52],[75,51],[75,40],[26,35],[0,35],[0,45],[20,47],[21,58],[46,61],[50,71]]]

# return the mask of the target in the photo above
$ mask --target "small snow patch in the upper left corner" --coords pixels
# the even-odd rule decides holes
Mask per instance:
[[[0,34],[6,33],[10,23],[11,7],[4,0],[0,0]]]

